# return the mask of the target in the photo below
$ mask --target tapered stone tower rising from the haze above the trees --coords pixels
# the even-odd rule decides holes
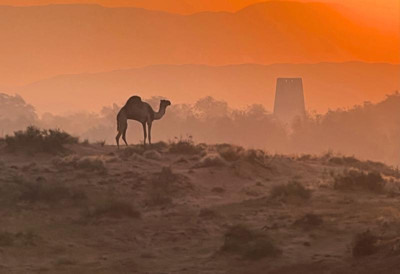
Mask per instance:
[[[305,116],[303,82],[301,78],[277,78],[273,114],[286,122]]]

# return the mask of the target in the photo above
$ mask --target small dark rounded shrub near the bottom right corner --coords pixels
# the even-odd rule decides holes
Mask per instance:
[[[376,252],[378,237],[369,230],[357,233],[352,242],[354,257],[367,256]]]

